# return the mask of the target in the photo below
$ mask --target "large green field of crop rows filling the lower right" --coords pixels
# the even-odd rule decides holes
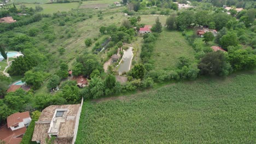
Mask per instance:
[[[76,143],[255,143],[256,73],[83,105]]]

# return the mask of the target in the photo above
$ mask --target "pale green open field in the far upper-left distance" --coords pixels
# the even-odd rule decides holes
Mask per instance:
[[[53,3],[53,4],[25,4],[26,7],[36,8],[36,5],[40,5],[43,8],[40,13],[44,14],[53,14],[57,11],[70,11],[71,9],[78,8],[78,2],[73,3]],[[18,6],[19,7],[19,6]]]

